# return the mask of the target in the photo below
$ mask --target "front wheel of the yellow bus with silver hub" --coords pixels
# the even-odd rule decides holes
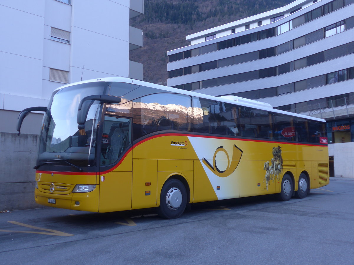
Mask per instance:
[[[165,182],[160,194],[158,214],[162,218],[178,218],[187,205],[187,192],[181,181],[169,179]]]

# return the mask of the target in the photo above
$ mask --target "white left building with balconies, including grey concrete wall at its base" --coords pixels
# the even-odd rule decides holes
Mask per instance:
[[[129,19],[142,13],[143,0],[0,0],[0,211],[35,206],[42,114],[30,113],[15,137],[19,111],[47,106],[65,83],[142,80],[143,65],[129,61],[129,51],[143,46]]]

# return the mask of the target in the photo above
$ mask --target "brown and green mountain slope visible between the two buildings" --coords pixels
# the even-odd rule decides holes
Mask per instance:
[[[167,51],[189,45],[185,36],[285,6],[291,0],[144,0],[131,26],[144,31],[144,47],[130,60],[144,64],[144,81],[167,83]]]

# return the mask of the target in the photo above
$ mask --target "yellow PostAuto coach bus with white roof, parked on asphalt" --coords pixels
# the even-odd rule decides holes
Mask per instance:
[[[208,96],[130,78],[59,87],[43,111],[38,204],[92,212],[278,194],[329,183],[325,120],[236,96]]]

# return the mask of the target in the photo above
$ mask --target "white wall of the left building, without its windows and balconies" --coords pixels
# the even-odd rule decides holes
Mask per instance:
[[[130,0],[0,0],[0,111],[47,105],[63,85],[50,68],[69,82],[128,77],[129,13]],[[51,28],[70,32],[70,43],[51,40]]]

